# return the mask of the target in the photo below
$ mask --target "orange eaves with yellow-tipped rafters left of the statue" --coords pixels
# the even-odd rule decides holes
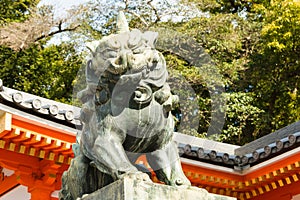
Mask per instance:
[[[74,133],[5,112],[0,123],[0,149],[65,164],[74,156]]]

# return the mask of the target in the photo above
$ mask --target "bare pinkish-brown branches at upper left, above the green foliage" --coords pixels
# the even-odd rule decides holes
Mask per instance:
[[[80,26],[76,16],[82,11],[84,11],[83,7],[70,9],[66,17],[58,18],[54,16],[53,6],[28,8],[24,12],[30,14],[24,14],[26,18],[21,15],[24,20],[7,20],[8,23],[0,26],[0,45],[19,51],[40,40],[75,31]]]

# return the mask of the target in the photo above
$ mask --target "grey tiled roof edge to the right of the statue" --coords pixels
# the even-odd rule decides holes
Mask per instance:
[[[243,170],[300,147],[300,121],[244,146],[227,146],[227,151],[215,141],[204,146],[177,141],[183,158]]]

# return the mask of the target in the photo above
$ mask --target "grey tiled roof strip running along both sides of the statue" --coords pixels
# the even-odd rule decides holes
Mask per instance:
[[[37,116],[57,126],[81,128],[80,108],[4,87],[0,79],[0,108]],[[179,154],[194,161],[243,170],[300,147],[300,121],[244,146],[175,134]]]

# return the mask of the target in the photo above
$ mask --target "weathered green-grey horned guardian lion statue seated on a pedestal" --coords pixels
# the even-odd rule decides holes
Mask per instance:
[[[78,93],[83,129],[63,175],[61,200],[77,199],[125,176],[151,181],[134,164],[142,154],[162,182],[190,185],[172,141],[171,110],[178,97],[166,82],[164,57],[154,48],[157,37],[156,32],[130,31],[120,12],[117,34],[89,46],[87,87]]]

